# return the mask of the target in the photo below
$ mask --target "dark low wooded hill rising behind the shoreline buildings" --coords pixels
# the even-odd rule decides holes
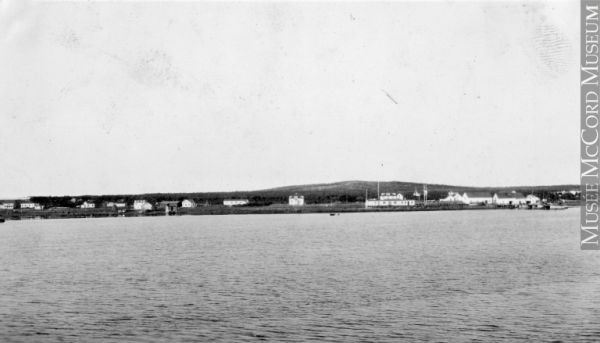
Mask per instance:
[[[437,200],[445,197],[449,191],[486,191],[506,192],[515,190],[523,194],[536,194],[540,197],[553,199],[557,192],[578,190],[577,184],[547,185],[547,186],[515,186],[515,187],[471,187],[452,186],[443,184],[427,184],[428,198]],[[409,199],[414,199],[413,193],[417,190],[423,193],[423,183],[383,181],[379,182],[380,193],[402,193]],[[79,195],[63,197],[32,197],[32,201],[39,202],[46,207],[74,206],[83,200],[93,200],[100,205],[102,201],[125,200],[132,203],[134,199],[146,199],[151,202],[162,200],[194,199],[200,204],[220,204],[227,198],[249,198],[254,205],[268,205],[274,203],[287,203],[288,196],[299,194],[305,197],[306,203],[327,202],[362,202],[365,193],[368,197],[377,196],[377,181],[341,181],[333,183],[319,183],[308,185],[284,186],[254,191],[235,192],[193,192],[193,193],[147,193],[147,194],[114,194],[114,195]],[[568,195],[567,195],[568,196]],[[75,200],[75,201],[73,201]]]

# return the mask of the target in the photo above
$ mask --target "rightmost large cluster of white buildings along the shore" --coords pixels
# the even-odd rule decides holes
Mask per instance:
[[[522,193],[512,191],[505,193],[491,192],[464,192],[462,195],[458,192],[448,192],[448,196],[440,199],[441,203],[467,204],[467,205],[498,205],[498,206],[521,206],[521,205],[539,205],[540,198],[533,194],[527,196]]]

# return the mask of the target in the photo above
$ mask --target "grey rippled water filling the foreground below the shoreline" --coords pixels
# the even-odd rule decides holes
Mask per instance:
[[[578,209],[0,225],[0,341],[598,341]]]

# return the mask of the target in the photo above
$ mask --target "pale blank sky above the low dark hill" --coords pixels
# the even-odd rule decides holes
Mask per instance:
[[[0,0],[0,197],[577,183],[578,11]]]

